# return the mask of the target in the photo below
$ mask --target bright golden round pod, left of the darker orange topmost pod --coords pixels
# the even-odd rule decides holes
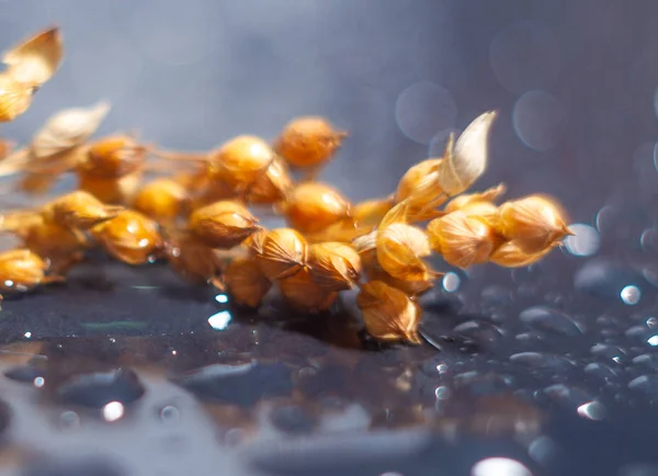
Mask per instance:
[[[215,180],[240,188],[256,182],[274,157],[274,151],[263,139],[242,135],[225,143],[209,161]]]

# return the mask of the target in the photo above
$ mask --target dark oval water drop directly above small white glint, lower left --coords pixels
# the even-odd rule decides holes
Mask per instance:
[[[73,376],[57,389],[57,396],[68,404],[102,409],[110,403],[129,405],[144,395],[144,386],[129,369]]]

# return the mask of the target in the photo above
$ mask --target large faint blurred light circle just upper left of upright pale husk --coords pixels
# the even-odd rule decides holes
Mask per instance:
[[[439,131],[452,127],[456,116],[457,105],[450,92],[428,81],[408,87],[395,105],[398,127],[420,144],[429,144]]]

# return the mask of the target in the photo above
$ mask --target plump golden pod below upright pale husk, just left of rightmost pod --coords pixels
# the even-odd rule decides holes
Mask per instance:
[[[431,220],[428,236],[432,249],[449,264],[464,269],[487,262],[501,241],[484,219],[462,211]]]

